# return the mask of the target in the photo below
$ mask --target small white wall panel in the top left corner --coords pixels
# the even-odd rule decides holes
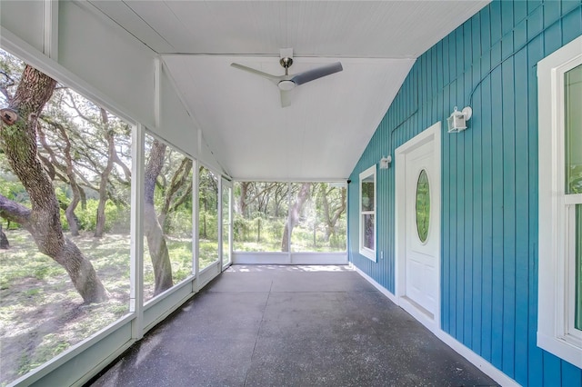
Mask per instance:
[[[44,5],[40,1],[5,1],[0,2],[0,25],[43,51]]]

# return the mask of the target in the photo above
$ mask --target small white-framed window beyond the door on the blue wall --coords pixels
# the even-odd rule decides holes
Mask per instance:
[[[360,174],[360,253],[376,262],[376,164]]]

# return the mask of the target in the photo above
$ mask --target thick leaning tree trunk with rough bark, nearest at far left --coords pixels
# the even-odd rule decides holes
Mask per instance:
[[[38,250],[61,264],[85,303],[107,300],[93,265],[63,234],[55,190],[36,154],[36,124],[53,94],[55,80],[26,65],[10,107],[19,114],[14,124],[0,126],[6,158],[30,196],[32,208],[0,195],[0,216],[18,222],[31,233]],[[18,220],[16,220],[18,218]]]

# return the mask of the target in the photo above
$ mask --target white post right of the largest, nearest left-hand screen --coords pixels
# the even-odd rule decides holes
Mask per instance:
[[[144,144],[146,131],[141,124],[132,131],[132,179],[131,179],[131,267],[130,312],[135,313],[132,322],[132,338],[139,340],[144,334]]]

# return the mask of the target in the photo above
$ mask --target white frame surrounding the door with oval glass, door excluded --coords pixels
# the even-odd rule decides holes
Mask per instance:
[[[396,148],[395,152],[395,167],[396,167],[396,205],[395,205],[395,295],[398,305],[400,305],[406,312],[410,313],[416,320],[423,323],[426,328],[433,332],[440,330],[440,307],[441,307],[441,256],[440,256],[440,235],[441,235],[441,202],[440,202],[440,190],[441,190],[441,123],[440,121],[432,126],[428,127],[425,131],[417,134],[414,138],[408,140],[406,144],[400,145]],[[435,156],[435,173],[433,179],[431,179],[430,193],[434,197],[434,201],[431,200],[431,207],[436,206],[435,210],[437,216],[433,220],[432,229],[431,225],[431,237],[436,238],[436,252],[435,257],[437,258],[435,275],[437,276],[437,294],[436,294],[436,307],[435,313],[430,315],[426,313],[422,308],[418,308],[415,303],[411,303],[409,299],[406,298],[406,216],[405,216],[405,197],[406,197],[406,154],[414,151],[419,146],[424,144],[433,144],[433,151]],[[433,204],[434,203],[434,204]],[[431,211],[432,212],[432,211]],[[434,233],[433,233],[434,232]]]

